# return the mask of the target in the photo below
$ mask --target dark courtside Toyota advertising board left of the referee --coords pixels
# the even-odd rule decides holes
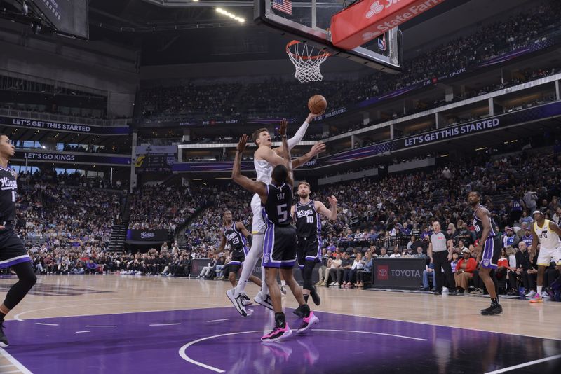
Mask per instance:
[[[372,286],[419,289],[425,265],[426,258],[374,258]]]

